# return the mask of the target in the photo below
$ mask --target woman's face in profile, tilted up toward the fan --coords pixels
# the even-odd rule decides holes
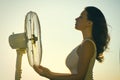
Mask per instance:
[[[84,30],[87,27],[88,19],[87,19],[87,11],[83,11],[79,17],[76,18],[75,28],[77,30]]]

